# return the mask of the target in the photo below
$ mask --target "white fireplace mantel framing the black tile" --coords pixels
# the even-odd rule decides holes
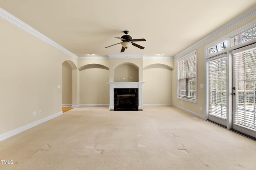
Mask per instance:
[[[114,110],[114,88],[138,88],[138,109],[143,109],[143,91],[145,82],[107,82],[109,84],[109,109]]]

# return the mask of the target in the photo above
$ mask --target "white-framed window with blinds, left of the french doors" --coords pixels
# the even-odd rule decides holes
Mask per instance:
[[[177,98],[196,103],[196,52],[177,61]]]

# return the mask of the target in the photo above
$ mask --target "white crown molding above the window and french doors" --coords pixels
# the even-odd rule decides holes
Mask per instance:
[[[211,39],[214,39],[214,38],[218,37],[219,35],[221,35],[222,33],[225,33],[226,31],[228,31],[232,27],[235,27],[236,25],[248,20],[249,18],[252,18],[255,15],[256,15],[256,6],[254,6],[253,8],[248,10],[247,12],[244,12],[242,15],[238,16],[234,20],[226,23],[224,26],[220,27],[219,29],[217,29],[213,33],[204,37],[203,39],[201,39],[200,41],[198,41],[194,45],[191,45],[190,47],[188,47],[188,48],[184,49],[183,51],[181,51],[180,53],[176,54],[174,56],[174,59],[176,59],[177,57],[181,57],[182,55],[185,55],[186,53],[196,49],[197,47],[200,47],[201,45],[204,45],[205,43],[207,43]]]

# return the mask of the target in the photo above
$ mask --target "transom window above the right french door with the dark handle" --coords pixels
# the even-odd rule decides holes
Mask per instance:
[[[248,29],[247,31],[235,35],[234,37],[231,37],[231,44],[232,46],[235,46],[254,38],[256,38],[256,27],[253,27],[251,29]]]

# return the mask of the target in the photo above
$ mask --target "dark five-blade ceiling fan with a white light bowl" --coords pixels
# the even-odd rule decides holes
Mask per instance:
[[[121,49],[121,53],[124,52],[125,49],[127,49],[128,47],[130,47],[131,45],[135,46],[135,47],[138,47],[140,49],[144,49],[145,47],[142,47],[136,43],[132,43],[134,41],[146,41],[146,39],[142,38],[142,39],[132,39],[132,37],[130,35],[127,35],[129,33],[129,31],[124,31],[125,35],[123,35],[121,38],[120,37],[115,37],[117,39],[121,39],[123,42],[121,43],[116,43],[114,45],[117,45],[117,44],[121,44],[122,45],[122,49]],[[132,42],[130,42],[132,41]],[[108,47],[112,47],[114,45],[110,45]],[[105,48],[108,48],[108,47],[105,47]]]

